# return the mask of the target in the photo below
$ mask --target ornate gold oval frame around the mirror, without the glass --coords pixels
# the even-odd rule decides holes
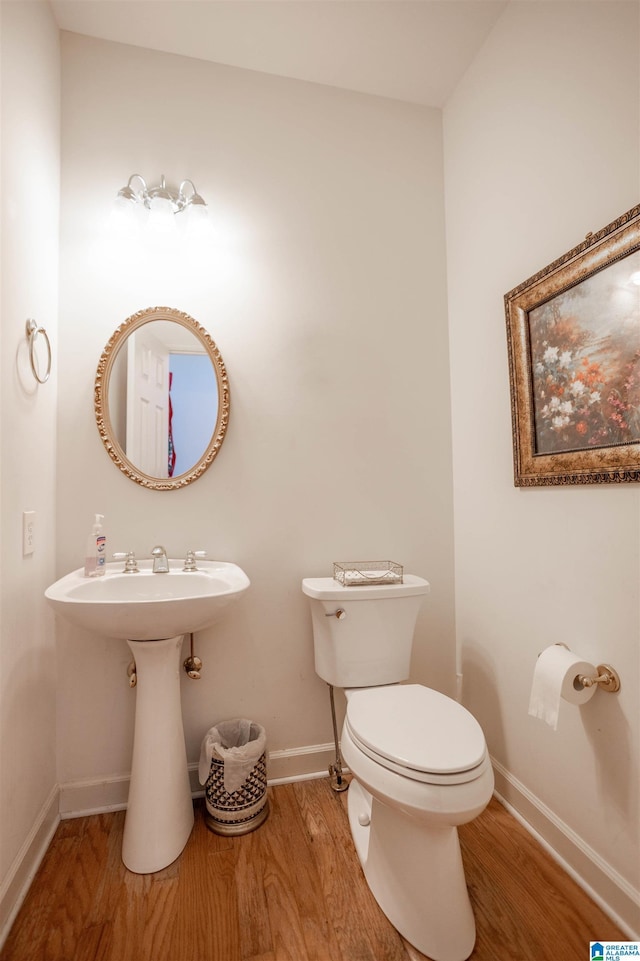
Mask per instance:
[[[111,372],[118,355],[118,351],[126,343],[133,331],[151,321],[173,321],[189,330],[203,346],[205,353],[211,360],[218,385],[218,412],[216,424],[211,439],[200,460],[192,468],[176,477],[158,478],[145,474],[127,457],[119,443],[109,413],[109,382]],[[126,476],[149,490],[179,490],[193,483],[211,466],[217,456],[225,437],[229,423],[229,380],[220,351],[207,331],[189,314],[185,314],[173,307],[150,307],[140,310],[122,323],[109,339],[102,352],[94,387],[94,409],[98,432],[107,453]]]

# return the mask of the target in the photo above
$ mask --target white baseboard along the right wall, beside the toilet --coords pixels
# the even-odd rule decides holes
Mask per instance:
[[[640,939],[640,892],[492,758],[496,796],[631,940]],[[594,938],[599,937],[593,931]]]

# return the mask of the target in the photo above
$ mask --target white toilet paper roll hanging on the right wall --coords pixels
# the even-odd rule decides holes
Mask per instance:
[[[546,721],[555,731],[558,727],[560,701],[586,704],[596,692],[597,684],[584,687],[581,674],[597,674],[593,664],[581,660],[561,644],[547,647],[538,658],[533,672],[529,714]]]

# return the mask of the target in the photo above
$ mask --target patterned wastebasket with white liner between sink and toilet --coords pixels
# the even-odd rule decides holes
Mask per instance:
[[[266,733],[246,718],[220,721],[202,740],[198,774],[205,784],[205,823],[216,834],[248,834],[266,820]]]

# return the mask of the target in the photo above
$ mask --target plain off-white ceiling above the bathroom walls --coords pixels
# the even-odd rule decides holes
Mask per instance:
[[[62,30],[441,107],[508,0],[51,0]]]

